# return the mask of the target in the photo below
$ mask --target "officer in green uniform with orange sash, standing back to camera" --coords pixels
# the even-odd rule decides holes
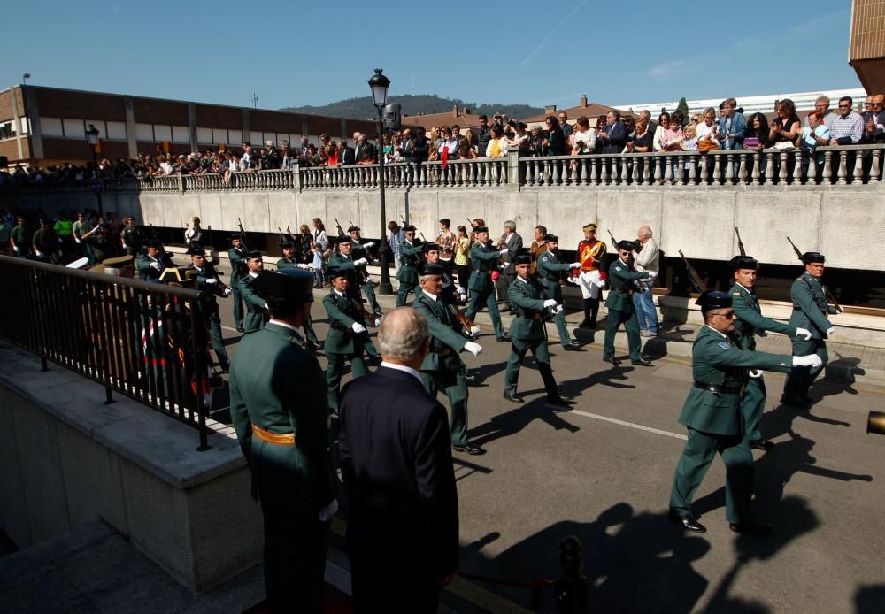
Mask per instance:
[[[297,333],[312,281],[299,269],[261,273],[252,288],[271,320],[242,338],[231,365],[231,422],[264,516],[271,612],[322,611],[329,521],[338,507],[322,369]]]

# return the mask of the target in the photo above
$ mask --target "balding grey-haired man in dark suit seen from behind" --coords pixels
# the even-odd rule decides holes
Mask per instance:
[[[419,369],[427,320],[411,307],[381,322],[384,362],[344,387],[339,449],[350,500],[355,612],[436,612],[458,568],[458,490],[449,420]]]

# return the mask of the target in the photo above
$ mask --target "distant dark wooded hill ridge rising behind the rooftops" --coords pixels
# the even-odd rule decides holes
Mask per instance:
[[[435,94],[407,94],[405,96],[390,96],[388,102],[401,104],[404,115],[431,115],[433,113],[449,113],[452,107],[458,105],[462,110],[466,107],[474,115],[494,115],[506,113],[512,118],[527,118],[543,113],[543,107],[531,106],[530,104],[475,104],[466,103],[458,98],[443,98]],[[375,119],[378,111],[372,104],[371,96],[348,98],[323,106],[305,105],[299,107],[286,107],[280,111],[294,113],[306,113],[308,115],[327,115],[346,119]]]

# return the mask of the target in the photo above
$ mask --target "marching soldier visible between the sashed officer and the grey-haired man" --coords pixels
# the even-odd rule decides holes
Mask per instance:
[[[366,375],[364,350],[371,357],[378,356],[378,350],[369,339],[366,331],[366,314],[363,303],[354,299],[348,288],[350,271],[333,268],[329,270],[331,291],[323,299],[323,307],[329,317],[329,332],[326,337],[326,370],[329,409],[337,413],[338,394],[341,390],[341,376],[344,363],[350,361],[350,372],[354,378]],[[372,322],[369,326],[375,326]]]

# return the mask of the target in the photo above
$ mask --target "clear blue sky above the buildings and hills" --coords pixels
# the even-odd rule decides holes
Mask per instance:
[[[860,87],[846,0],[7,4],[3,88],[30,73],[218,104],[255,93],[275,109],[366,96],[375,67],[392,94],[560,107]]]

